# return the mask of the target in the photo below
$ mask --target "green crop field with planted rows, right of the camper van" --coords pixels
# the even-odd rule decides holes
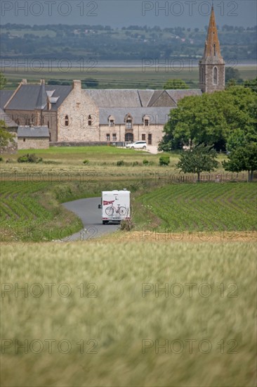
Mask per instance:
[[[170,231],[257,229],[256,184],[169,184],[137,200]]]

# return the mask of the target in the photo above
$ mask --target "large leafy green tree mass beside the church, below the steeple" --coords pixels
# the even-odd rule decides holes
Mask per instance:
[[[247,141],[255,141],[257,96],[251,89],[232,87],[202,96],[187,96],[172,109],[164,125],[159,149],[170,151],[183,145],[214,144],[225,151],[228,138],[236,129],[244,132]]]

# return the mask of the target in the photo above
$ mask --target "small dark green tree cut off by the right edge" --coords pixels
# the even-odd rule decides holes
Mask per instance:
[[[223,161],[223,167],[230,172],[248,172],[248,180],[253,180],[253,172],[257,170],[257,143],[252,142],[235,148],[228,161]]]

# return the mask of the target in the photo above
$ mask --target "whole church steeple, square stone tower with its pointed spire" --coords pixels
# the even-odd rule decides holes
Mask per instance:
[[[204,47],[204,56],[199,61],[199,82],[204,93],[225,89],[225,62],[220,53],[218,30],[211,7],[209,29]]]

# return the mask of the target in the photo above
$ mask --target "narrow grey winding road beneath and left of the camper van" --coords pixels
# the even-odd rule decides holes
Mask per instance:
[[[103,234],[107,234],[119,229],[119,224],[102,224],[102,210],[98,209],[101,198],[79,199],[62,203],[67,210],[78,215],[84,225],[84,229],[68,236],[65,241],[93,241]]]

